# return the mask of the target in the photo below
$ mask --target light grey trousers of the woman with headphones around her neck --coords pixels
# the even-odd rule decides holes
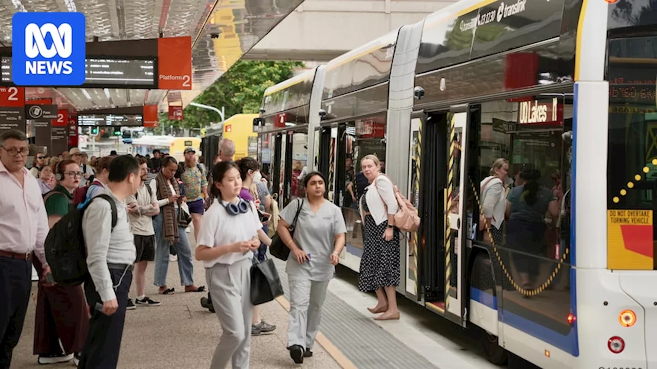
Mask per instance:
[[[210,369],[223,369],[233,359],[233,369],[248,369],[251,349],[251,259],[206,269],[214,310],[221,323],[221,339]]]

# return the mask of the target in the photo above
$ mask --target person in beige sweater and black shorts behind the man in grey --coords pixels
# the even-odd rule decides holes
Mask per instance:
[[[135,309],[136,305],[160,305],[159,301],[154,301],[145,295],[148,261],[155,260],[155,230],[152,217],[160,213],[160,206],[158,205],[156,189],[152,186],[154,183],[146,184],[148,175],[147,160],[139,158],[137,161],[139,161],[139,174],[141,175],[142,184],[134,196],[128,196],[125,200],[130,228],[135,235],[135,247],[137,248],[137,260],[135,261],[137,297],[134,303],[131,299],[127,300],[127,309]]]

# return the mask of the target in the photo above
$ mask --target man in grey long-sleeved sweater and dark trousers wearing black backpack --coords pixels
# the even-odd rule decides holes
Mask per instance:
[[[89,335],[78,368],[116,368],[123,336],[125,308],[135,262],[135,240],[125,207],[125,199],[141,185],[137,159],[123,155],[110,163],[107,194],[116,206],[116,226],[112,228],[112,207],[94,198],[82,217],[91,280],[85,283],[87,303],[92,309]]]

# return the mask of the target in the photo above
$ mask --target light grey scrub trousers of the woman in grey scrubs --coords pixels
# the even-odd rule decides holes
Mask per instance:
[[[288,276],[290,287],[290,325],[288,347],[300,345],[312,349],[322,320],[322,305],[327,297],[328,280],[315,281]]]

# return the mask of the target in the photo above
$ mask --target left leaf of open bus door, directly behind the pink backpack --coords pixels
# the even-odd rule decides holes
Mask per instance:
[[[419,209],[420,193],[420,118],[411,120],[411,141],[409,142],[409,174],[407,198]],[[418,265],[417,254],[419,253],[419,232],[411,232],[406,238],[406,292],[419,297],[417,290]]]

